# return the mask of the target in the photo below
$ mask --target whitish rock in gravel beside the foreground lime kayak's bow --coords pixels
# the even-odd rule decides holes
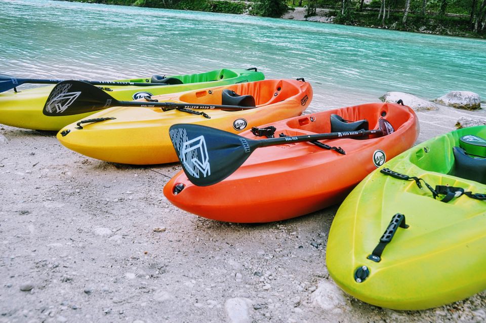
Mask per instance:
[[[312,304],[325,311],[342,312],[347,307],[344,292],[334,282],[322,280],[311,294]]]

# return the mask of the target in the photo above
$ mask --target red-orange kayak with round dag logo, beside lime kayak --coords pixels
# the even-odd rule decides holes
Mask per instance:
[[[281,120],[255,131],[268,135],[265,128],[273,126],[278,137],[371,130],[377,129],[382,117],[394,128],[386,136],[321,140],[320,146],[301,142],[256,149],[219,183],[196,186],[181,171],[164,187],[164,194],[178,208],[226,222],[280,221],[320,210],[342,201],[369,173],[413,146],[419,134],[414,111],[395,103],[362,104]],[[266,139],[252,131],[241,136]],[[338,151],[339,147],[345,154]]]

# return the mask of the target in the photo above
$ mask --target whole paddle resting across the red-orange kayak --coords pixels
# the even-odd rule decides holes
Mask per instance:
[[[394,132],[385,119],[379,119],[378,127],[376,130],[254,140],[210,127],[178,124],[170,128],[169,136],[189,180],[197,186],[208,186],[231,175],[257,148],[372,134],[386,136]]]

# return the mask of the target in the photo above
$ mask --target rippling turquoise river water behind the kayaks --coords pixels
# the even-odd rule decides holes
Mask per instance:
[[[304,77],[310,111],[387,91],[486,98],[486,41],[242,15],[0,0],[0,73],[113,79],[258,67]]]

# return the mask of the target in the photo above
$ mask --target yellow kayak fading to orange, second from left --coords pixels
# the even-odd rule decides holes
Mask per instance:
[[[228,98],[227,93],[232,97]],[[169,137],[170,126],[193,123],[239,133],[252,126],[302,114],[312,100],[312,87],[301,80],[272,79],[152,97],[159,102],[214,105],[238,105],[238,101],[250,98],[254,100],[255,108],[189,110],[205,111],[210,118],[177,109],[163,111],[157,107],[108,108],[80,120],[83,121],[81,127],[76,123],[64,127],[57,138],[71,150],[107,162],[172,163],[178,158]],[[102,121],[86,123],[86,119]]]

